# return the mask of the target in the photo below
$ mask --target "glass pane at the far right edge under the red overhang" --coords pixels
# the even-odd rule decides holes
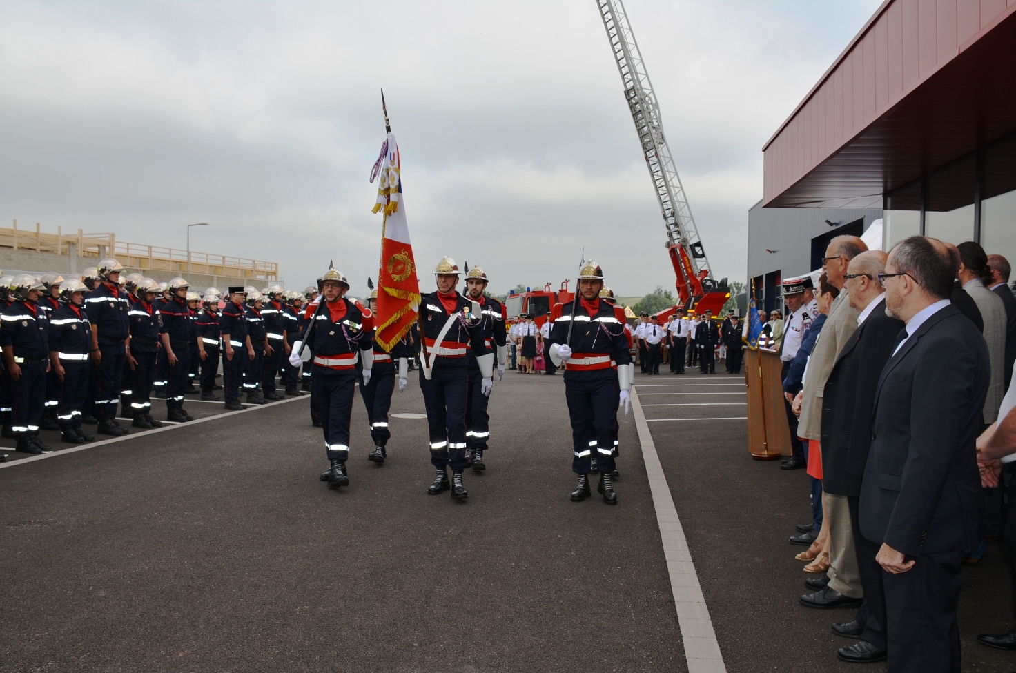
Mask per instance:
[[[1016,139],[985,151],[980,243],[989,255],[1016,264]]]

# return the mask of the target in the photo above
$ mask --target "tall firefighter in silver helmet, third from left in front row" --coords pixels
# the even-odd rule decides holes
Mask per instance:
[[[130,433],[117,421],[117,403],[127,360],[126,340],[130,332],[130,300],[120,289],[122,271],[123,266],[115,259],[100,262],[96,267],[99,285],[84,304],[91,323],[91,358],[96,362],[92,413],[99,419],[99,432],[113,436]],[[88,275],[87,272],[84,275]]]

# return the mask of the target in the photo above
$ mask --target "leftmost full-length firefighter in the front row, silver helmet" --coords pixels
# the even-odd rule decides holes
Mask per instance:
[[[7,379],[13,388],[11,432],[17,451],[42,454],[51,451],[39,439],[39,420],[46,401],[46,373],[50,368],[49,331],[46,312],[39,308],[43,283],[27,274],[15,276],[8,285],[12,304],[0,321]]]

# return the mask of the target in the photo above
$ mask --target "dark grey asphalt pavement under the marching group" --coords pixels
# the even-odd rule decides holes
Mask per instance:
[[[393,414],[424,412],[417,376]],[[807,476],[751,460],[743,382],[636,382],[726,670],[846,667],[829,624],[852,612],[798,604]],[[367,460],[359,396],[337,491],[307,398],[3,467],[0,671],[687,670],[634,418],[620,503],[571,502],[563,389],[495,383],[461,502],[426,492],[426,420],[392,417]],[[1016,668],[973,641],[1010,626],[1007,591],[991,544],[964,569],[964,671]]]

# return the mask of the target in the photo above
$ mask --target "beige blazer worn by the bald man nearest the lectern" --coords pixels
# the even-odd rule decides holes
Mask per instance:
[[[832,302],[829,317],[808,359],[808,376],[805,378],[805,394],[801,400],[798,436],[816,441],[822,439],[822,394],[825,392],[825,384],[832,374],[836,356],[858,329],[860,315],[861,312],[850,306],[844,288]]]

